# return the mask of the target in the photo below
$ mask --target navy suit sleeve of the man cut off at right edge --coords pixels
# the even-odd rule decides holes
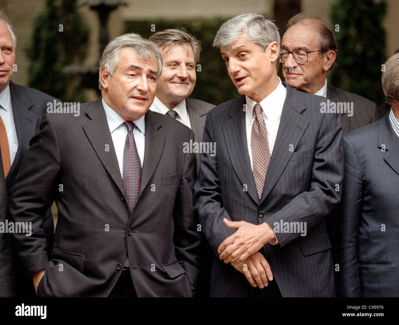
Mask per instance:
[[[333,242],[334,263],[338,297],[360,297],[358,264],[358,232],[363,200],[363,181],[356,153],[344,137],[345,174],[342,200],[335,216]]]

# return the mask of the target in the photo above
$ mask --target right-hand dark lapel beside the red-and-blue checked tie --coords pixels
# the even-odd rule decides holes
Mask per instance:
[[[146,139],[143,168],[141,172],[140,193],[138,194],[139,197],[158,166],[164,151],[166,140],[166,138],[163,135],[160,135],[160,132],[158,131],[162,126],[162,123],[153,111],[147,111],[145,115],[145,126]]]

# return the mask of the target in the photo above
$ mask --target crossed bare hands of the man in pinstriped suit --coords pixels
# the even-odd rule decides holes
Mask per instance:
[[[219,258],[243,273],[253,287],[266,287],[273,280],[273,274],[269,263],[258,251],[267,242],[275,239],[271,227],[266,223],[255,225],[226,218],[223,223],[237,231],[220,244],[217,249]]]

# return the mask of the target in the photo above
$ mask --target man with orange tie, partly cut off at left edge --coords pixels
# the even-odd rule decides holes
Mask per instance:
[[[8,196],[29,149],[30,139],[39,131],[40,119],[46,113],[51,97],[36,89],[16,85],[11,81],[15,63],[16,37],[4,12],[0,11],[0,133],[2,138],[2,157]],[[3,171],[3,168],[2,168]],[[49,250],[53,238],[54,226],[51,210],[48,208],[44,224]],[[16,295],[34,296],[32,279],[22,279],[22,266],[16,265],[12,272],[16,281]]]

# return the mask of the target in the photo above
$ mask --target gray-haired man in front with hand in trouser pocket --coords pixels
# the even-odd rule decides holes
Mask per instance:
[[[80,115],[46,114],[12,194],[18,255],[38,296],[192,296],[200,273],[190,129],[148,111],[162,58],[136,34],[115,38],[100,61],[102,98]],[[17,186],[18,185],[18,186]],[[45,254],[43,206],[58,207]]]

